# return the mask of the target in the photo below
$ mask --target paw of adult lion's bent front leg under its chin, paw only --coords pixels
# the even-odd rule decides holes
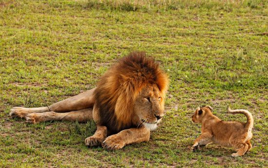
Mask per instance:
[[[102,143],[102,147],[109,150],[121,149],[125,143],[117,135],[108,136]]]

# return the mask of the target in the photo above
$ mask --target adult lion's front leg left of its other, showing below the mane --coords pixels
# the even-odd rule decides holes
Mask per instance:
[[[85,144],[88,147],[100,146],[107,137],[107,127],[98,126],[94,135],[85,139]]]

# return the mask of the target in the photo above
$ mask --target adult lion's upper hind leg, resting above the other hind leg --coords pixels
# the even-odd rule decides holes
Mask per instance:
[[[80,93],[76,96],[59,101],[49,107],[38,108],[22,108],[14,107],[11,109],[9,115],[12,117],[24,118],[28,113],[41,113],[41,112],[71,112],[76,110],[82,110],[86,108],[93,108],[95,99],[95,88],[89,91]]]

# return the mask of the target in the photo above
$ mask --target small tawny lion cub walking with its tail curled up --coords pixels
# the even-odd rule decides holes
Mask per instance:
[[[238,121],[223,121],[212,114],[211,106],[198,107],[191,116],[194,123],[201,123],[201,135],[194,141],[191,150],[198,149],[199,146],[206,146],[212,142],[223,147],[236,149],[236,153],[231,156],[242,156],[252,147],[250,139],[253,128],[253,117],[247,110],[231,110],[232,114],[241,113],[247,116],[247,123]]]

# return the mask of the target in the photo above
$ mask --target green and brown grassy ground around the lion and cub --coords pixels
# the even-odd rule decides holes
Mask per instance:
[[[265,0],[0,0],[0,167],[268,167],[268,7]],[[144,50],[170,76],[166,115],[149,143],[88,149],[94,122],[27,124],[8,113],[96,86],[108,67]],[[196,107],[247,109],[253,148],[190,148]]]

